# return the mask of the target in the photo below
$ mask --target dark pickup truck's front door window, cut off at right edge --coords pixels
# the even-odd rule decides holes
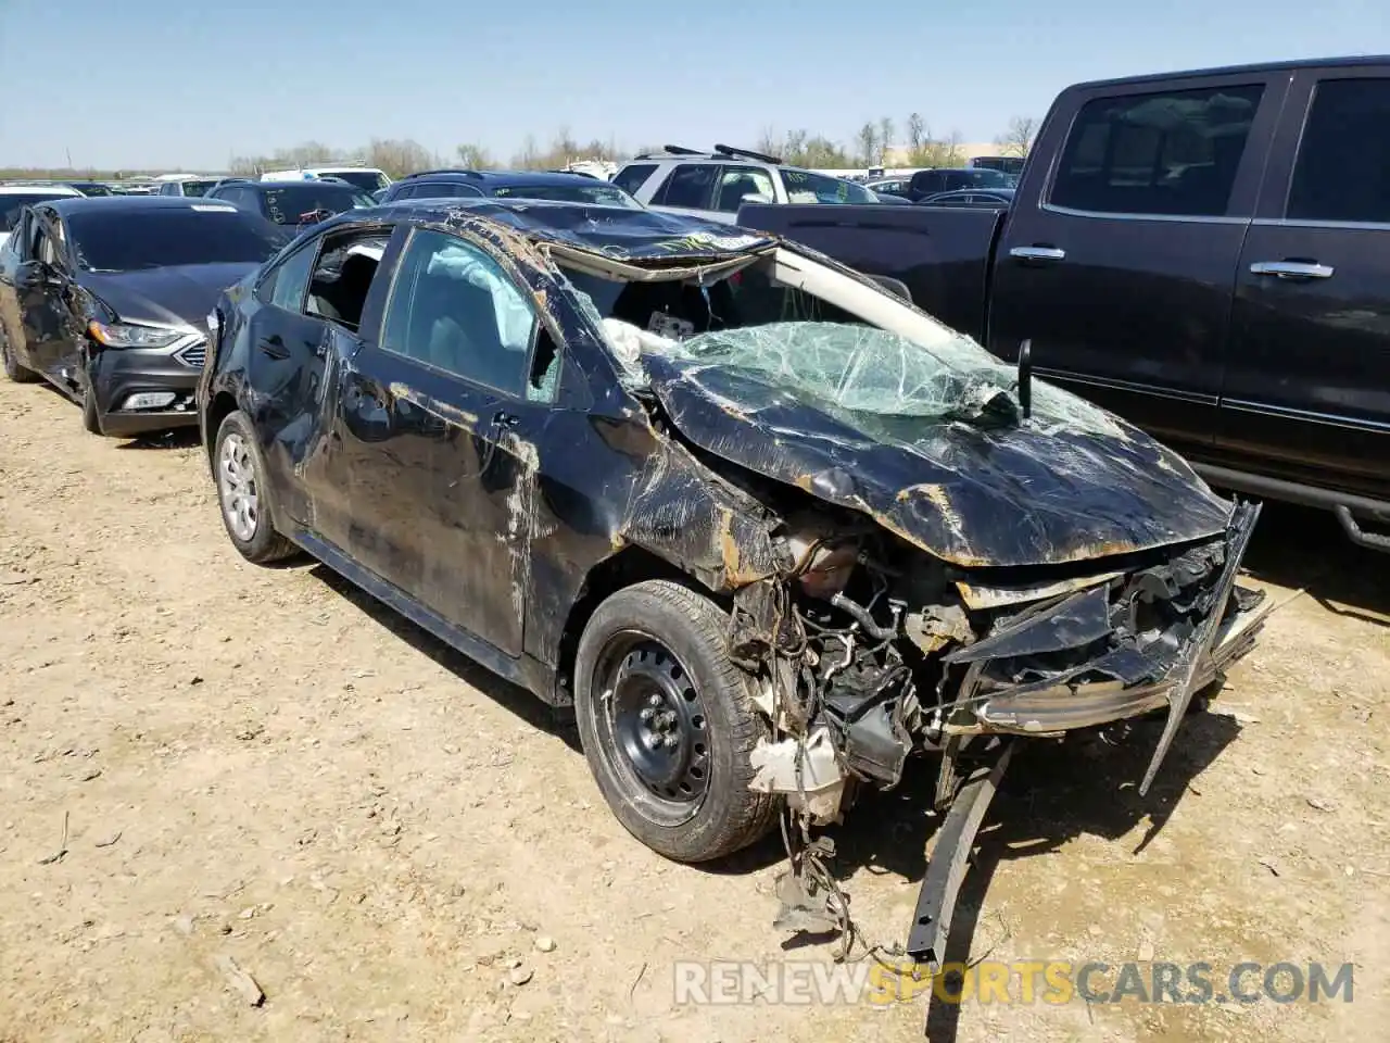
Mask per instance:
[[[1286,216],[1390,224],[1390,79],[1318,83]]]

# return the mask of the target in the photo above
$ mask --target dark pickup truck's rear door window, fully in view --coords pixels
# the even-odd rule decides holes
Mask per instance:
[[[1225,214],[1264,90],[1252,83],[1087,102],[1048,202],[1106,214]]]

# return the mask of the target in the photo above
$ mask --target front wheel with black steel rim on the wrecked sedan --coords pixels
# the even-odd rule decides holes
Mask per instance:
[[[680,862],[733,854],[776,822],[753,793],[751,754],[771,727],[728,659],[728,617],[664,580],[620,590],[580,638],[575,719],[613,814]]]

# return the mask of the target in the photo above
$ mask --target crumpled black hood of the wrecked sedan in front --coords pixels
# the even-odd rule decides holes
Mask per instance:
[[[685,438],[860,510],[963,567],[1086,560],[1225,531],[1232,503],[1175,452],[1058,388],[1104,426],[977,426],[845,409],[738,366],[645,355]]]

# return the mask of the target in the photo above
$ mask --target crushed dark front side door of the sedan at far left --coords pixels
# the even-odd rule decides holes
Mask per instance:
[[[32,210],[25,218],[19,266],[14,289],[19,305],[21,364],[31,370],[61,375],[75,387],[76,353],[82,331],[72,314],[71,268],[67,261],[57,217]],[[28,356],[28,357],[25,357]],[[65,373],[67,371],[67,373]]]

